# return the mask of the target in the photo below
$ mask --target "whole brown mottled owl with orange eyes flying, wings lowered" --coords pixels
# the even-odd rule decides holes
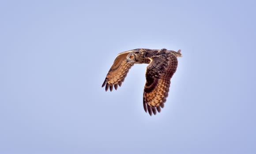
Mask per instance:
[[[149,64],[146,69],[143,107],[150,115],[156,114],[166,102],[170,79],[178,66],[177,57],[182,57],[180,52],[181,50],[176,52],[166,49],[134,49],[121,52],[114,60],[102,87],[105,86],[105,91],[112,91],[113,87],[117,90],[134,64]]]

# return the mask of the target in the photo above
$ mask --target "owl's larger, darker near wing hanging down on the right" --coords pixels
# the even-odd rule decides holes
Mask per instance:
[[[170,79],[178,65],[177,58],[169,54],[167,57],[150,58],[151,63],[146,70],[146,84],[143,93],[143,107],[150,115],[161,111],[168,96]]]

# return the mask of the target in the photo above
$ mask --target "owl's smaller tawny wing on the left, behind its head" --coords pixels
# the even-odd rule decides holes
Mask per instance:
[[[111,92],[113,90],[113,86],[116,90],[118,85],[121,86],[129,69],[133,66],[133,63],[126,62],[126,56],[130,52],[132,52],[132,50],[121,52],[117,55],[116,59],[113,62],[113,65],[111,66],[107,74],[107,77],[105,78],[105,81],[102,84],[102,87],[106,85],[105,91],[109,89]]]

